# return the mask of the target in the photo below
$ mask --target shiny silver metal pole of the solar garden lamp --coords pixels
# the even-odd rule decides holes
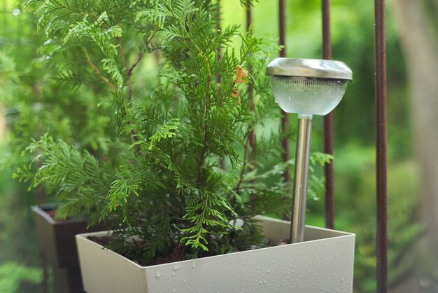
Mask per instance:
[[[290,243],[304,241],[311,129],[312,116],[298,115],[297,150],[295,152],[295,176],[292,201],[292,224],[290,225]]]

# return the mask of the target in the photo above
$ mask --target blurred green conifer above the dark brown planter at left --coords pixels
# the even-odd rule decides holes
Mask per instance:
[[[108,93],[99,88],[100,81],[89,80],[83,87],[66,86],[66,59],[54,39],[35,33],[37,22],[31,15],[22,13],[20,21],[24,32],[4,42],[0,51],[0,102],[8,128],[8,144],[0,166],[6,172],[14,170],[14,177],[27,182],[34,177],[29,170],[34,156],[22,151],[32,139],[50,132],[55,139],[98,156],[106,149],[106,136],[113,130],[109,123],[111,108],[97,106]],[[34,168],[39,166],[40,162],[34,164]],[[44,194],[39,188],[40,201],[55,200],[44,199]],[[35,198],[22,200],[29,205],[36,203]]]

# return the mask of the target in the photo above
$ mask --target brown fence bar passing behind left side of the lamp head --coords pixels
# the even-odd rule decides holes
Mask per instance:
[[[280,51],[280,57],[286,57],[286,20],[285,20],[285,0],[278,0],[278,33],[280,35],[280,45],[283,48]],[[289,117],[288,114],[281,110],[281,131],[288,132],[289,129]],[[288,137],[283,138],[281,142],[283,146],[283,161],[289,161],[289,139]],[[283,175],[284,181],[290,181],[289,168],[286,168]]]

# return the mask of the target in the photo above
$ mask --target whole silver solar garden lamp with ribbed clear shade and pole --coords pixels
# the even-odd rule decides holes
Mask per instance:
[[[292,58],[276,58],[266,74],[275,102],[283,111],[298,114],[290,225],[290,243],[298,243],[304,241],[312,116],[326,115],[341,102],[353,74],[344,62]]]

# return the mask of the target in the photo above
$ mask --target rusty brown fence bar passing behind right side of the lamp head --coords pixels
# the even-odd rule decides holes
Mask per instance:
[[[322,0],[323,13],[323,59],[332,59],[330,34],[330,0]],[[333,155],[333,114],[324,116],[324,152]],[[325,172],[325,227],[334,229],[334,170],[333,161],[326,163]]]

